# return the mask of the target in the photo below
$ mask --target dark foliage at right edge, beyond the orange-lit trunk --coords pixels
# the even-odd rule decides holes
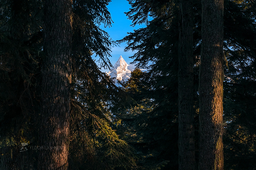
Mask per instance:
[[[255,169],[255,5],[225,1],[225,169]]]

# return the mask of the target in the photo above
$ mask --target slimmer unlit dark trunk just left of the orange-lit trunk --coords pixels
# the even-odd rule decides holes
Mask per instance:
[[[193,1],[180,0],[178,50],[178,169],[195,169]]]

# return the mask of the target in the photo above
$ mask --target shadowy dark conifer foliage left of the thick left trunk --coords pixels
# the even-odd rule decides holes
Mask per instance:
[[[1,1],[0,169],[29,169],[34,153],[21,143],[37,139],[41,1]]]

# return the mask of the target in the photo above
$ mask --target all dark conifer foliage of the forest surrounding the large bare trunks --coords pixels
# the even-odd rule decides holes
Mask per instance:
[[[68,166],[62,169],[178,169],[183,1],[129,0],[132,8],[126,13],[128,18],[133,25],[146,23],[146,28],[135,30],[118,42],[113,42],[99,28],[100,24],[111,25],[109,2],[72,1]],[[47,58],[44,3],[0,1],[0,169],[3,170],[39,169],[42,158],[37,146],[42,146],[40,135],[44,130],[40,115],[45,97],[41,95],[42,69]],[[193,72],[189,72],[192,77],[189,112],[197,167],[202,5],[197,0],[191,5]],[[148,16],[153,19],[148,20]],[[255,20],[255,1],[224,1],[224,169],[256,169]],[[117,87],[100,72],[92,55],[99,56],[100,66],[109,68],[110,49],[119,42],[127,42],[126,50],[137,50],[131,57],[138,68],[128,82]],[[28,145],[23,148],[22,143]],[[52,150],[48,148],[46,152]]]

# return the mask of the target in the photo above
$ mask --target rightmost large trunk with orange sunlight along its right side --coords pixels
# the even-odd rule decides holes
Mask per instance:
[[[224,0],[202,0],[199,169],[223,169]]]

